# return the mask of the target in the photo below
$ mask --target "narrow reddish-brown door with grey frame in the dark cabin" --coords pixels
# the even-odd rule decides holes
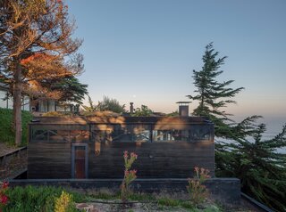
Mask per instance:
[[[88,144],[71,144],[71,177],[88,178]]]

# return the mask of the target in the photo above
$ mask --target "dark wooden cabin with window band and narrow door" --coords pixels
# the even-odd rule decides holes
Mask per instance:
[[[140,178],[214,176],[214,124],[198,117],[39,117],[29,124],[28,178],[122,178],[123,151]]]

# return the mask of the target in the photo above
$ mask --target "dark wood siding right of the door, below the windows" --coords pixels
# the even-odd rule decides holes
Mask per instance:
[[[139,155],[132,166],[138,170],[139,177],[190,177],[195,166],[209,169],[214,176],[213,142],[111,143],[102,146],[99,154],[95,154],[94,148],[90,143],[90,178],[122,177],[123,151]]]

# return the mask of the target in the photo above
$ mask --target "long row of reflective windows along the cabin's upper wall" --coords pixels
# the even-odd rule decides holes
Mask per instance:
[[[81,127],[81,126],[80,126]],[[182,129],[154,129],[147,124],[94,125],[88,127],[69,126],[55,129],[55,126],[35,127],[31,129],[31,142],[112,142],[112,143],[150,143],[168,141],[212,140],[213,128],[206,125],[182,126]],[[172,127],[172,126],[171,126]]]

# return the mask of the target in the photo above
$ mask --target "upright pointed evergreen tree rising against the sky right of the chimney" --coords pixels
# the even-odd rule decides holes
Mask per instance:
[[[206,116],[214,122],[215,135],[226,136],[230,135],[231,128],[228,121],[231,121],[223,107],[228,103],[235,103],[231,98],[240,93],[243,87],[236,89],[231,88],[233,80],[225,82],[218,82],[216,77],[223,73],[220,70],[224,64],[225,59],[218,58],[218,52],[214,52],[213,44],[206,45],[206,51],[203,55],[204,66],[201,70],[193,70],[194,85],[197,87],[195,90],[196,95],[188,95],[189,99],[198,101],[198,108],[193,112],[197,116]]]

